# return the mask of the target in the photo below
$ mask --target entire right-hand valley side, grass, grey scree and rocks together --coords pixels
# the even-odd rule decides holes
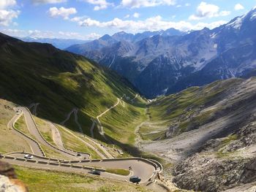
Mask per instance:
[[[256,182],[255,100],[255,77],[156,99],[138,131],[145,140],[141,147],[175,164],[165,176],[180,188],[224,191],[242,185],[245,191]]]

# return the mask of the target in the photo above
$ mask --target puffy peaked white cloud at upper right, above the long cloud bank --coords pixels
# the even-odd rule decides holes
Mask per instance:
[[[198,7],[195,15],[190,15],[189,20],[200,20],[203,18],[215,18],[219,16],[230,15],[228,11],[219,12],[219,7],[215,4],[207,4],[202,1]]]

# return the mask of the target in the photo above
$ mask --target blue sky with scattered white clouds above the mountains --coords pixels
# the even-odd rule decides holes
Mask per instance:
[[[256,0],[0,0],[0,31],[14,37],[97,39],[104,34],[215,28]]]

